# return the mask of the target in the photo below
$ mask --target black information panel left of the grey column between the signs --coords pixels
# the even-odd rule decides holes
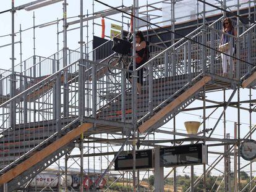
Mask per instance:
[[[114,161],[114,170],[132,169],[132,153],[121,154]],[[148,169],[153,167],[152,150],[136,151],[136,169]]]

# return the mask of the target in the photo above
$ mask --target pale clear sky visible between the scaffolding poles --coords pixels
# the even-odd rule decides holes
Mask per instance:
[[[25,4],[30,1],[26,0],[20,0],[20,1],[15,1],[15,6],[19,6],[21,4]],[[74,19],[70,20],[77,20],[79,19],[77,15],[79,15],[79,0],[68,0],[68,6],[67,6],[67,17],[75,17]],[[111,6],[120,6],[121,5],[121,0],[116,0],[116,1],[104,1],[107,2]],[[157,1],[148,1],[148,2],[157,2]],[[92,0],[87,0],[84,1],[84,7],[83,11],[84,14],[92,13]],[[124,1],[126,6],[130,6],[132,4],[131,0],[126,0]],[[145,4],[145,0],[140,0],[140,4]],[[179,5],[181,6],[181,5]],[[11,0],[2,0],[0,2],[0,11],[6,10],[6,9],[11,9]],[[95,4],[95,11],[100,11],[107,9],[107,7],[96,3]],[[54,4],[52,6],[47,6],[43,7],[41,9],[36,9],[35,10],[35,25],[40,25],[42,23],[50,22],[52,20],[56,20],[57,18],[61,19],[62,18],[62,6],[61,2]],[[120,20],[121,15],[114,15],[112,18]],[[128,19],[125,19],[128,22]],[[97,23],[100,23],[100,19],[96,20]],[[106,20],[106,35],[109,35],[109,28],[110,24],[112,22],[109,20]],[[22,30],[26,28],[33,27],[33,11],[26,11],[26,10],[19,10],[15,13],[15,31],[19,31],[19,28]],[[72,27],[78,27],[79,25],[74,25]],[[71,27],[70,27],[71,28]],[[62,29],[62,22],[59,23],[59,30]],[[125,28],[126,29],[126,28]],[[83,28],[84,30],[84,38],[86,41],[86,36],[87,36],[87,29]],[[101,27],[95,25],[95,35],[100,36],[101,35]],[[7,12],[4,14],[0,14],[0,46],[4,44],[9,44],[11,43],[11,36],[9,34],[11,33],[11,13]],[[56,25],[51,25],[49,27],[45,28],[35,28],[35,46],[36,46],[36,55],[38,56],[44,56],[48,57],[51,56],[54,52],[57,51],[57,26]],[[89,27],[88,27],[88,36],[89,40],[92,40],[92,22],[89,22]],[[8,36],[4,36],[8,35]],[[2,37],[4,36],[4,37]],[[15,41],[19,41],[20,35],[17,34],[15,36]],[[79,48],[79,30],[73,30],[68,32],[68,47],[70,49],[76,49]],[[59,35],[59,43],[60,43],[60,48],[62,48],[62,33]],[[22,32],[22,60],[27,59],[28,57],[33,56],[33,29],[23,31]],[[0,68],[2,69],[10,69],[11,68],[11,46],[7,46],[5,48],[0,48]],[[15,64],[18,64],[20,61],[20,46],[19,44],[15,44]],[[252,99],[255,99],[255,90],[253,90],[253,96]],[[226,91],[226,98],[229,97],[231,94],[231,91]],[[247,100],[249,99],[249,90],[241,89],[241,100]],[[216,101],[223,101],[223,93],[221,91],[219,92],[214,92],[214,93],[208,93],[207,94],[207,99],[215,99]],[[233,101],[237,101],[237,96],[234,96]],[[209,103],[207,103],[209,105]],[[195,106],[202,106],[202,101],[195,101],[193,102],[189,107],[195,107]],[[242,106],[248,107],[248,104],[242,104]],[[210,114],[210,112],[213,109],[207,109],[207,115]],[[218,109],[213,115],[211,115],[211,118],[207,120],[207,128],[212,128],[215,125],[216,119],[218,119],[219,115],[221,114],[222,109]],[[186,133],[186,130],[184,128],[184,121],[186,120],[198,120],[202,122],[202,115],[203,112],[198,110],[198,111],[189,111],[189,112],[182,112],[181,114],[177,115],[176,117],[176,128],[182,133]],[[234,108],[228,108],[226,111],[226,118],[227,118],[227,132],[231,133],[231,138],[233,137],[234,133],[234,122],[237,122],[237,110]],[[253,114],[253,124],[256,123],[256,118],[255,114]],[[241,111],[241,137],[245,135],[245,133],[249,130],[249,113],[245,111]],[[171,120],[169,123],[166,123],[164,127],[167,127],[167,130],[172,130],[173,129],[173,121]],[[200,127],[200,130],[202,130],[202,127]],[[216,128],[215,134],[213,135],[214,137],[218,138],[223,138],[223,120],[219,123],[219,125]],[[159,138],[163,139],[171,139],[171,135],[163,135],[163,134],[158,134]],[[222,149],[221,149],[222,150]],[[219,148],[211,148],[211,151],[220,151]],[[213,154],[209,154],[209,163],[214,161],[214,157],[216,157]],[[98,157],[97,157],[98,158]],[[96,159],[96,161],[98,161]],[[247,163],[242,159],[242,164]],[[100,162],[98,162],[96,165],[99,165]],[[105,167],[106,167],[106,162],[105,162]],[[218,165],[221,169],[223,169],[223,164]],[[202,173],[202,166],[196,166],[195,167],[195,174]],[[183,168],[179,169],[180,174],[183,174]],[[164,172],[168,173],[169,169],[166,169]],[[189,172],[189,168],[187,167],[184,172]],[[213,170],[213,174],[218,175],[220,172]]]

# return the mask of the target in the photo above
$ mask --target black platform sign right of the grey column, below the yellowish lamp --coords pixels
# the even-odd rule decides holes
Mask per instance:
[[[207,146],[187,144],[160,149],[160,167],[207,164]]]

